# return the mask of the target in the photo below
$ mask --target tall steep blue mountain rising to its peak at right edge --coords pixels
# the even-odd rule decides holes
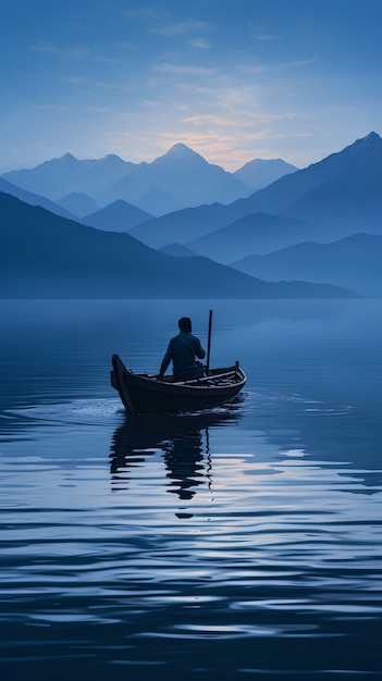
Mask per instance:
[[[370,133],[247,199],[250,212],[307,220],[320,240],[381,232],[382,139]],[[366,228],[365,228],[366,227]]]

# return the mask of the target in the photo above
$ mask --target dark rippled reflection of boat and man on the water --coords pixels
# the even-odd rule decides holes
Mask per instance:
[[[168,492],[190,499],[199,485],[211,484],[209,429],[239,418],[234,405],[195,416],[128,416],[113,435],[110,454],[112,486],[125,490],[133,471],[145,466],[156,450],[164,459]]]

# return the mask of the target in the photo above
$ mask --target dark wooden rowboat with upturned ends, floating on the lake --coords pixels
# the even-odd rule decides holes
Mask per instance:
[[[112,366],[111,384],[130,413],[176,413],[221,405],[235,397],[247,380],[238,362],[184,382],[174,382],[172,375],[158,381],[156,375],[134,373],[118,355],[113,355]]]

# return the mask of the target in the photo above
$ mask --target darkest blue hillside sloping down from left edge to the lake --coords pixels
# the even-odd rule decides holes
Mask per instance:
[[[347,297],[342,288],[267,284],[206,258],[172,258],[0,193],[1,298]]]

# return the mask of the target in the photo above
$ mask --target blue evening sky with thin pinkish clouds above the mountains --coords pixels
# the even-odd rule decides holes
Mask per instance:
[[[1,0],[0,172],[184,143],[234,171],[382,134],[381,0]]]

